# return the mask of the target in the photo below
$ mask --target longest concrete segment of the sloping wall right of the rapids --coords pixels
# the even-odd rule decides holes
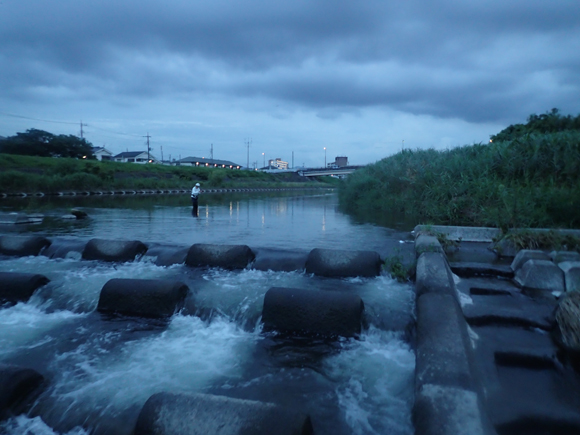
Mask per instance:
[[[437,293],[420,296],[415,388],[434,384],[475,391],[469,351],[467,323],[456,299]]]

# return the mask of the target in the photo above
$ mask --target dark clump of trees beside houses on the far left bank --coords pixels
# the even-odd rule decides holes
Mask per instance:
[[[0,141],[0,153],[40,157],[71,157],[94,159],[92,145],[73,135],[54,135],[31,128]]]

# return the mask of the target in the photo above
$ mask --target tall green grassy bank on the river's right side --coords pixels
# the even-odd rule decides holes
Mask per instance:
[[[405,150],[353,173],[342,206],[419,223],[580,228],[580,132],[444,151]]]

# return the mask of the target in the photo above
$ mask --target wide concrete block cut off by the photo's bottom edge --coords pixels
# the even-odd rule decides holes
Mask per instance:
[[[311,435],[310,417],[273,403],[208,394],[157,393],[134,435]]]

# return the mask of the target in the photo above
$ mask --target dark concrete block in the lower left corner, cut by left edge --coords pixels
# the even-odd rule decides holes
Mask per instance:
[[[44,377],[35,370],[0,364],[0,421],[26,412],[43,385]]]

